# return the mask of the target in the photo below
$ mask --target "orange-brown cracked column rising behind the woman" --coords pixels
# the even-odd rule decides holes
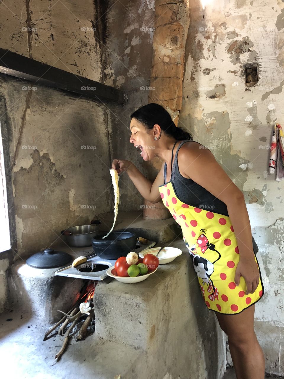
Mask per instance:
[[[175,125],[181,110],[184,73],[184,50],[189,28],[189,0],[155,1],[153,60],[148,103],[158,103],[171,114]],[[143,162],[144,167],[155,177],[162,162],[155,159]],[[163,202],[152,204],[144,200],[145,219],[167,219],[171,215]]]

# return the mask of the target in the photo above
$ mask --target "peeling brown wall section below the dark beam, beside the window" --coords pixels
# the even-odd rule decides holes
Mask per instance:
[[[89,224],[112,207],[104,106],[22,86],[0,77],[10,117],[15,207],[10,227],[16,227],[21,257],[50,246],[62,229]]]

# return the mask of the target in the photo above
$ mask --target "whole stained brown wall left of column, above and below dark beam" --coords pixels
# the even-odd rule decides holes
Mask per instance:
[[[62,229],[112,212],[113,158],[142,169],[129,124],[131,112],[148,99],[140,87],[150,78],[154,1],[22,0],[0,4],[0,13],[2,48],[130,91],[126,105],[101,103],[0,75],[10,230],[19,259],[49,246]],[[126,174],[120,193],[121,210],[140,209],[142,198]]]

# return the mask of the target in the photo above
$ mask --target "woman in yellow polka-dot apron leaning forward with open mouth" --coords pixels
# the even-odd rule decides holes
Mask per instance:
[[[132,143],[144,161],[163,162],[154,183],[128,160],[114,159],[152,203],[162,198],[183,231],[202,296],[228,335],[238,379],[264,378],[265,362],[254,332],[254,304],[263,296],[259,266],[242,192],[210,150],[175,127],[155,103],[144,105],[130,122]]]

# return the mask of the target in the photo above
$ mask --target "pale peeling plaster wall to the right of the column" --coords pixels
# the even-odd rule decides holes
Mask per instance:
[[[273,123],[284,126],[284,5],[236,0],[211,2],[204,10],[199,2],[190,6],[179,126],[212,151],[245,195],[266,290],[256,304],[256,333],[266,371],[283,375],[284,181],[276,182],[267,165]],[[245,84],[245,63],[259,66],[255,86]]]

